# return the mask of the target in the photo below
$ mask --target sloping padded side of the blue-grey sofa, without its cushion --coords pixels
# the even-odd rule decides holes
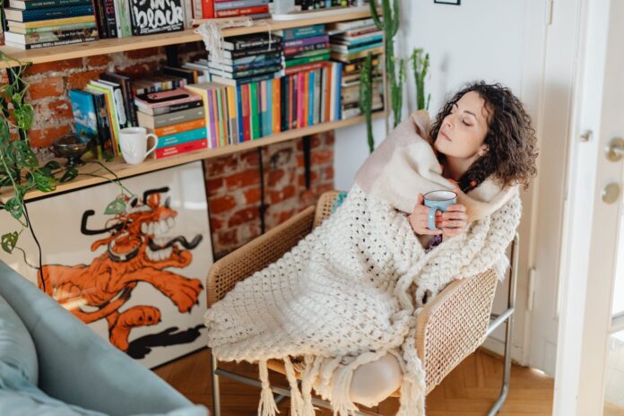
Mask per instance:
[[[188,413],[180,415],[207,414],[2,262],[0,294],[30,331],[39,388],[50,396],[113,416],[183,409]]]

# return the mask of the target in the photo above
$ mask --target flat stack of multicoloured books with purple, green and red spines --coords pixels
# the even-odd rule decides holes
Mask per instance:
[[[321,68],[329,60],[329,46],[324,24],[284,30],[285,74]]]

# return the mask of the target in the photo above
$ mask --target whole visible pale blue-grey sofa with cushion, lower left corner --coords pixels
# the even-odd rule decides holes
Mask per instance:
[[[206,416],[208,411],[0,262],[0,414],[102,413]]]

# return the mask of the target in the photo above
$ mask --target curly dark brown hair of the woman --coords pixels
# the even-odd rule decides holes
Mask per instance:
[[[479,93],[490,112],[488,133],[483,142],[490,150],[472,163],[459,180],[459,186],[464,189],[473,181],[481,184],[486,178],[493,176],[501,185],[519,184],[526,189],[531,178],[537,174],[535,130],[522,102],[499,83],[471,82],[455,93],[439,111],[431,126],[429,142],[433,144],[436,141],[444,118],[451,113],[455,103],[470,91]],[[438,160],[444,163],[445,155],[439,153]]]

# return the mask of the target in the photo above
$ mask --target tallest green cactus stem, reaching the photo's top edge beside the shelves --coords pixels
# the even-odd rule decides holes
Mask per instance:
[[[377,13],[377,0],[370,0],[370,13],[377,28],[384,30],[386,36],[386,79],[390,82],[390,103],[394,117],[393,128],[401,122],[402,100],[402,65],[399,66],[399,79],[397,80],[395,72],[394,58],[394,35],[399,30],[399,1],[394,0],[393,7],[390,7],[390,0],[381,0],[383,16],[379,17]],[[387,102],[387,101],[386,101]]]

